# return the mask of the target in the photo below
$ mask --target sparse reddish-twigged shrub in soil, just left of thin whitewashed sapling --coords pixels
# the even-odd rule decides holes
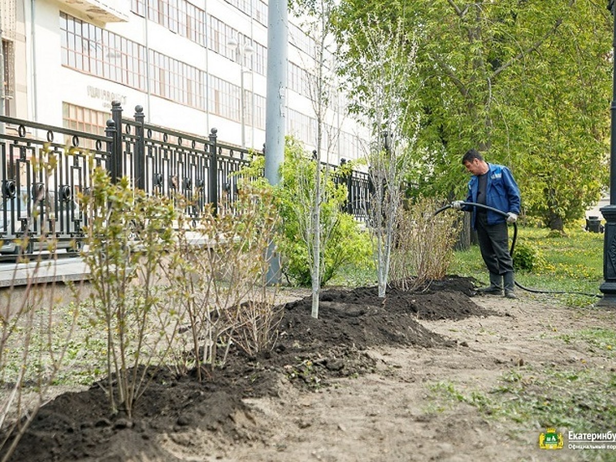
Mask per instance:
[[[169,264],[192,350],[190,355],[176,350],[180,371],[194,365],[202,380],[203,373],[224,364],[232,342],[254,353],[272,341],[278,317],[275,290],[267,287],[267,249],[277,222],[272,194],[251,185],[218,214],[206,211],[195,226],[182,218]]]

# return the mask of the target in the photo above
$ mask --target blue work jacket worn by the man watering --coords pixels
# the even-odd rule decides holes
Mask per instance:
[[[503,165],[488,163],[487,182],[485,185],[485,205],[503,212],[520,213],[520,190],[511,171]],[[468,195],[466,202],[477,203],[477,188],[479,178],[473,175],[468,182]],[[477,207],[464,206],[466,211],[472,211],[471,224],[476,229]],[[495,225],[506,221],[506,217],[488,210],[488,225]]]

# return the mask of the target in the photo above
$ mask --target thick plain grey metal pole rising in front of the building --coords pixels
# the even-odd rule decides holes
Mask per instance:
[[[280,165],[285,159],[285,91],[288,47],[287,0],[270,0],[267,6],[267,94],[265,95],[265,178],[280,182]],[[280,281],[280,258],[270,246],[267,280]]]

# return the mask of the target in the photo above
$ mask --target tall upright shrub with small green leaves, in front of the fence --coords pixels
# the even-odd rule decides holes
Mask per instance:
[[[125,411],[130,418],[148,384],[148,367],[159,365],[168,350],[163,340],[174,319],[159,269],[174,238],[176,212],[171,200],[133,190],[126,177],[114,184],[100,167],[91,175],[92,188],[83,204],[92,322],[100,323],[107,335],[105,391],[111,410]]]

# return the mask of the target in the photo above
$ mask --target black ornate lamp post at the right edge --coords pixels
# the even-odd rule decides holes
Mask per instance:
[[[607,9],[614,17],[615,0],[607,2]],[[612,47],[616,55],[616,21]],[[612,59],[612,105],[610,107],[612,121],[610,133],[610,205],[602,207],[601,214],[606,219],[606,227],[603,241],[603,278],[604,282],[599,286],[603,298],[597,303],[598,306],[616,307],[616,59]]]

